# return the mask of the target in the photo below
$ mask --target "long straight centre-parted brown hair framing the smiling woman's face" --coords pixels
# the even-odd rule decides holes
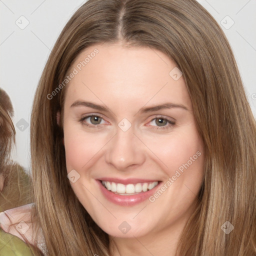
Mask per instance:
[[[56,113],[68,85],[60,93],[56,87],[81,50],[117,41],[158,49],[176,62],[204,144],[203,185],[177,255],[256,255],[255,119],[223,31],[195,0],[88,0],[60,33],[35,93],[30,130],[34,214],[49,255],[109,255],[108,235],[66,177]]]

